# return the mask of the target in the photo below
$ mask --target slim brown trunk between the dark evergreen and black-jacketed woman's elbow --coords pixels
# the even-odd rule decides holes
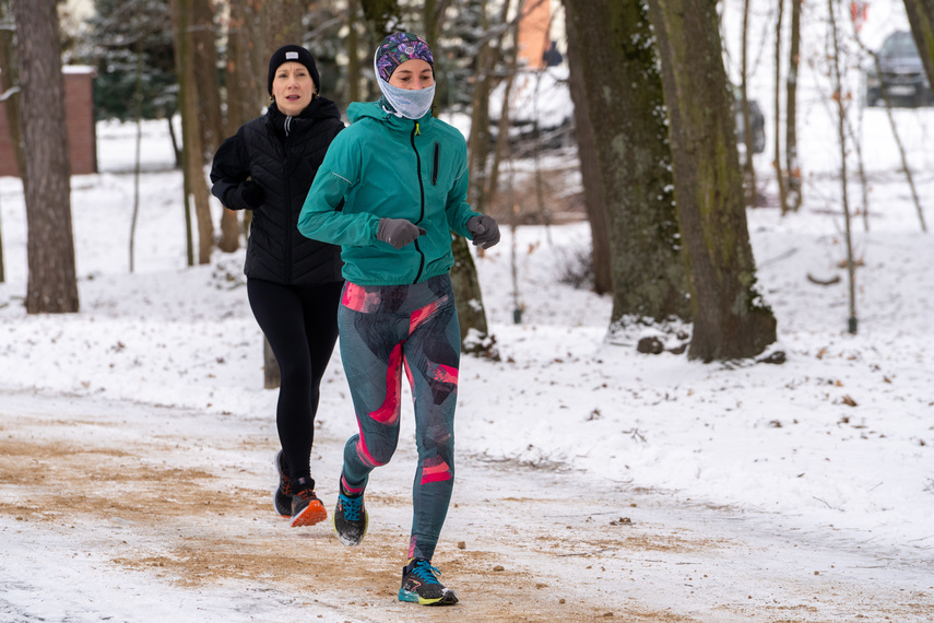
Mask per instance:
[[[210,191],[204,177],[201,124],[199,115],[199,87],[194,74],[194,56],[191,25],[191,0],[172,0],[175,22],[175,58],[179,81],[179,108],[181,110],[181,160],[186,185],[186,205],[189,195],[194,201],[198,223],[198,263],[211,261],[214,244],[214,224],[211,221]]]

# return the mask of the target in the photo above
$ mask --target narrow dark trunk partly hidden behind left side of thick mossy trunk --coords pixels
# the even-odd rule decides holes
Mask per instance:
[[[565,11],[569,13],[571,9],[567,7],[567,0],[565,0]],[[596,139],[588,113],[587,92],[584,91],[582,75],[583,67],[580,60],[587,54],[587,48],[578,39],[577,28],[567,27],[566,30],[568,67],[570,68],[568,85],[574,102],[577,153],[580,160],[580,175],[583,180],[583,201],[587,209],[587,220],[590,223],[593,290],[598,294],[606,294],[613,292],[613,278],[610,271],[610,226],[606,221],[603,178],[596,158],[596,145],[594,143]]]

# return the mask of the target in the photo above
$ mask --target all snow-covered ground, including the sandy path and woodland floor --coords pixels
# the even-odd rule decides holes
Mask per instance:
[[[359,550],[273,516],[276,393],[243,250],[185,266],[164,124],[145,126],[134,273],[134,128],[102,124],[102,173],[72,180],[79,314],[25,314],[22,187],[0,179],[0,621],[934,620],[934,233],[885,113],[866,110],[847,333],[827,111],[815,96],[802,115],[802,210],[748,212],[782,365],[643,355],[638,331],[607,343],[611,302],[557,279],[586,224],[504,231],[477,259],[503,361],[462,360],[436,560],[462,603],[440,613],[394,601],[404,440],[374,477]],[[934,109],[896,113],[932,228]],[[863,210],[855,177],[849,193]],[[312,467],[328,506],[353,432],[335,353]]]

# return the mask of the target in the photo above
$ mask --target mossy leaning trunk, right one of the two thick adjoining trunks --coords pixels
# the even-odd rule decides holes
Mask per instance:
[[[756,272],[716,7],[650,0],[661,57],[679,228],[687,251],[694,334],[688,357],[730,360],[776,340]]]

